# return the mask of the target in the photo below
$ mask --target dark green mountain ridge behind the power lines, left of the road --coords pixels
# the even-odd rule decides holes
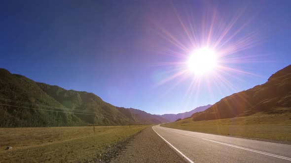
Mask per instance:
[[[0,69],[0,127],[81,126],[92,124],[93,118],[96,125],[167,122],[142,110],[115,107],[93,93],[66,90]]]

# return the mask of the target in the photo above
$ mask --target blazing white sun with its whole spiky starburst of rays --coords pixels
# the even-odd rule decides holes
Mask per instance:
[[[254,17],[241,21],[243,9],[225,18],[219,15],[216,8],[212,8],[203,14],[203,19],[200,20],[195,19],[191,12],[184,19],[175,9],[174,12],[183,32],[181,37],[177,37],[175,32],[167,30],[166,27],[156,24],[160,36],[173,46],[173,48],[161,48],[163,54],[177,56],[175,62],[157,63],[158,66],[172,67],[173,70],[171,75],[159,81],[158,85],[177,81],[168,88],[170,91],[182,81],[190,79],[183,98],[191,98],[194,93],[195,100],[199,95],[201,84],[207,86],[211,96],[214,94],[213,87],[220,90],[221,94],[225,89],[235,90],[235,86],[228,81],[228,78],[235,79],[237,74],[257,76],[236,67],[236,64],[261,61],[257,59],[258,55],[240,54],[259,43],[257,31],[245,30]],[[204,52],[199,52],[201,55],[191,56],[193,51]]]

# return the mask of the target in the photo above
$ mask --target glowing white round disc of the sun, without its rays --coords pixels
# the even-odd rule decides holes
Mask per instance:
[[[195,75],[209,74],[217,66],[217,53],[208,47],[196,49],[190,53],[187,66],[188,71]]]

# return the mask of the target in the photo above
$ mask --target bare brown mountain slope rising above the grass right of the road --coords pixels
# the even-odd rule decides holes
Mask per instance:
[[[194,121],[291,112],[291,65],[273,74],[267,82],[232,94],[212,107],[192,114]]]

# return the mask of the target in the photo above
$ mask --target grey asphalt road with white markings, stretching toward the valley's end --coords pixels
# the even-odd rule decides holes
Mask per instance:
[[[190,163],[291,163],[291,145],[161,126],[152,129]]]

